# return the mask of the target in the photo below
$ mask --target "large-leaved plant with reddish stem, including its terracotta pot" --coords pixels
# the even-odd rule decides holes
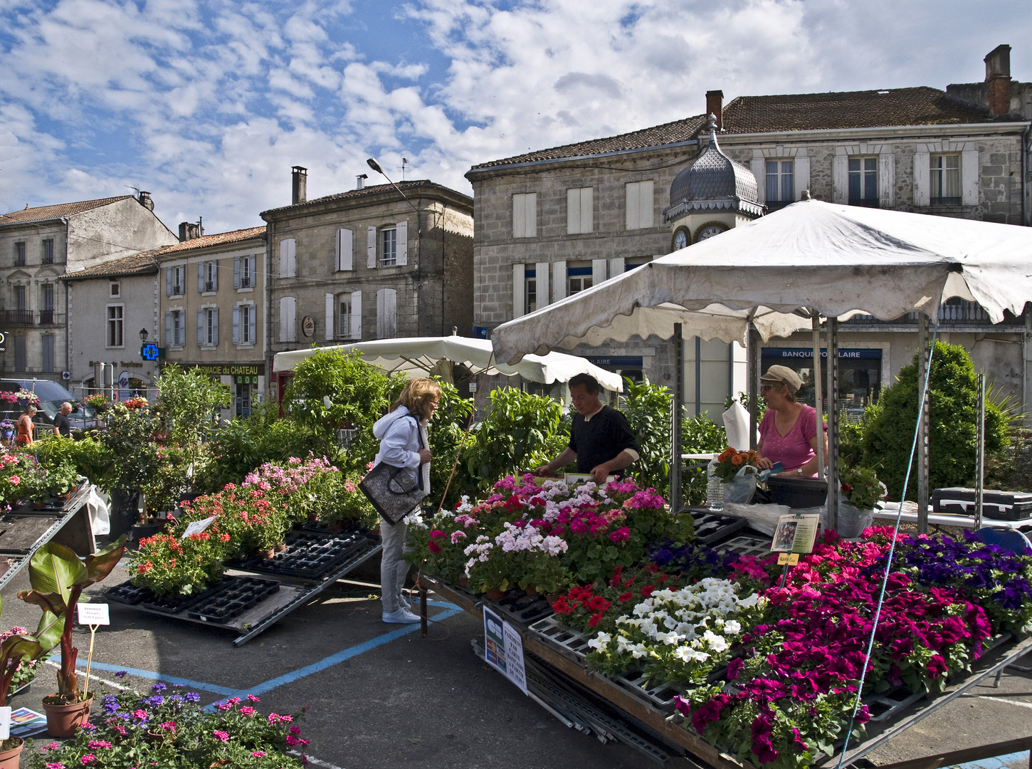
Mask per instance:
[[[52,618],[63,624],[61,631],[61,669],[58,671],[58,692],[43,698],[46,711],[46,733],[52,737],[70,737],[80,724],[90,718],[92,692],[80,692],[75,661],[78,649],[72,646],[71,632],[75,626],[75,607],[83,590],[104,579],[125,552],[125,537],[87,555],[85,563],[64,545],[50,542],[33,553],[29,560],[31,590],[20,590],[18,597],[43,611],[40,627],[49,627]],[[87,684],[89,685],[89,684]]]

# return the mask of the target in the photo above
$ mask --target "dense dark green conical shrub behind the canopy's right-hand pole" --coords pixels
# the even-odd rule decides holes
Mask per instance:
[[[903,490],[923,384],[917,382],[915,354],[913,362],[900,371],[896,383],[882,390],[866,415],[865,464],[879,468],[878,477],[896,500]],[[967,351],[936,342],[929,380],[929,488],[974,485],[977,395],[977,376]],[[1000,405],[987,399],[987,457],[1007,447],[1007,417]],[[912,476],[908,484],[908,500],[917,496],[915,478]]]

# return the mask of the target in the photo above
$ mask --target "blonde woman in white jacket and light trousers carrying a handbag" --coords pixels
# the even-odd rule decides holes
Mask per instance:
[[[412,480],[419,473],[423,488],[430,488],[430,452],[426,448],[426,424],[433,416],[441,399],[441,387],[429,379],[414,379],[401,391],[387,416],[373,425],[373,435],[380,439],[380,451],[375,464],[384,462],[411,472]],[[383,557],[380,562],[380,600],[383,602],[385,622],[418,622],[412,606],[405,600],[401,589],[409,574],[405,560],[405,540],[409,524],[404,520],[390,523],[380,518],[380,538],[383,540]]]

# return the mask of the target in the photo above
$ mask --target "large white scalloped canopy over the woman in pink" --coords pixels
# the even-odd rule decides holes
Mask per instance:
[[[994,323],[1032,299],[1032,229],[803,200],[504,323],[498,360],[685,334],[744,344],[746,322],[768,340],[809,326],[791,315],[864,312],[884,320],[935,315],[953,296]],[[690,312],[686,312],[690,311]]]

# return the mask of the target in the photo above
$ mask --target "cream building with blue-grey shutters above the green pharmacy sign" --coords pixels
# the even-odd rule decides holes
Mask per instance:
[[[199,369],[229,387],[223,418],[247,417],[267,392],[265,227],[197,234],[159,249],[155,341],[163,365]]]

